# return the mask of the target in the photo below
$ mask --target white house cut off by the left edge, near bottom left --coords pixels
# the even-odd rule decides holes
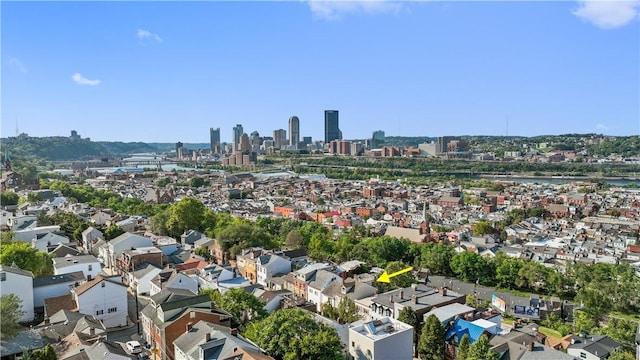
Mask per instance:
[[[0,265],[0,296],[8,294],[14,294],[22,300],[24,315],[20,321],[33,320],[33,274],[31,271]]]

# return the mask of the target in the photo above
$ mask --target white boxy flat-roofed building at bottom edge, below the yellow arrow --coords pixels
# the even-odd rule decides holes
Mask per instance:
[[[413,327],[390,317],[356,321],[349,328],[349,354],[355,360],[412,360]]]

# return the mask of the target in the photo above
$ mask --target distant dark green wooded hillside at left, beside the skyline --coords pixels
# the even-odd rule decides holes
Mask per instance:
[[[12,159],[39,159],[67,161],[100,158],[116,154],[135,152],[156,152],[156,148],[145,143],[93,142],[64,136],[31,137],[21,134],[0,140],[0,152],[4,158],[6,151]]]

